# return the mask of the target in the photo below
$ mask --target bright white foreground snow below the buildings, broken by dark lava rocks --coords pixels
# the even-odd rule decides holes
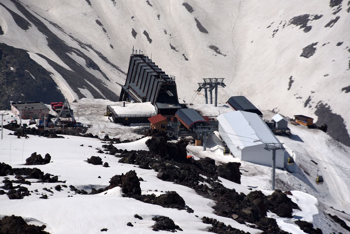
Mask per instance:
[[[194,209],[194,213],[163,208],[132,198],[122,197],[119,187],[96,195],[82,195],[64,187],[61,188],[61,191],[51,189],[52,192],[50,192],[44,188],[50,188],[57,184],[62,185],[63,183],[33,183],[37,180],[28,179],[32,184],[22,184],[22,186],[34,191],[32,195],[21,200],[9,200],[6,194],[0,195],[0,218],[4,215],[20,215],[27,221],[31,221],[32,224],[46,225],[45,230],[50,233],[96,233],[102,228],[109,229],[108,232],[111,233],[153,233],[151,226],[154,221],[152,221],[152,218],[156,215],[165,215],[173,219],[183,229],[184,233],[204,233],[209,225],[204,224],[201,217],[209,216],[245,232],[259,232],[259,230],[239,224],[233,219],[213,214],[214,201],[198,195],[191,188],[158,179],[156,177],[157,172],[154,170],[145,170],[134,167],[134,165],[118,163],[119,159],[109,154],[105,154],[106,158],[102,158],[103,161],[109,163],[110,167],[105,168],[99,165],[87,164],[84,160],[91,155],[101,156],[95,150],[96,147],[103,145],[98,139],[75,136],[65,136],[64,139],[49,139],[37,136],[30,136],[29,139],[17,139],[16,136],[7,135],[9,132],[5,129],[6,135],[4,135],[5,139],[3,140],[5,144],[1,145],[1,154],[3,155],[2,161],[12,167],[37,167],[45,173],[58,175],[59,180],[66,180],[65,185],[67,186],[73,185],[88,192],[92,187],[107,186],[108,181],[115,174],[135,170],[137,175],[144,180],[141,181],[142,193],[158,194],[155,190],[176,191],[185,200],[186,204]],[[79,146],[80,144],[83,144],[84,147]],[[64,145],[64,147],[57,151],[57,145]],[[87,147],[87,145],[92,147]],[[27,155],[34,151],[42,155],[50,153],[52,162],[46,165],[23,165]],[[98,176],[101,178],[98,178]],[[10,180],[15,179],[14,176],[7,177]],[[246,194],[251,192],[248,190],[250,186],[235,184],[225,179],[222,179],[222,181],[229,188],[235,188],[237,191]],[[3,183],[0,185],[3,186]],[[266,195],[272,192],[262,191]],[[315,227],[326,228],[324,230],[345,233],[342,228],[329,219],[325,220],[327,225],[326,222],[318,223],[316,221],[316,216],[323,215],[323,211],[319,210],[315,197],[299,191],[292,191],[292,193],[293,196],[290,196],[290,198],[297,202],[301,208],[301,211],[295,210],[293,212],[295,216],[292,219],[279,218],[275,214],[269,213],[269,216],[277,219],[281,229],[290,233],[302,234],[304,232],[292,222],[301,219],[313,223]],[[48,195],[48,199],[38,199],[43,194]],[[68,197],[68,195],[71,197]],[[135,219],[134,214],[139,214],[143,217],[143,220]],[[62,225],[63,220],[65,225]],[[127,222],[132,222],[134,227],[128,227]]]

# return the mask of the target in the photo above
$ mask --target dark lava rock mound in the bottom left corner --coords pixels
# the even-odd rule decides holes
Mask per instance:
[[[28,225],[21,216],[5,216],[0,220],[0,233],[6,234],[49,234],[41,227]]]

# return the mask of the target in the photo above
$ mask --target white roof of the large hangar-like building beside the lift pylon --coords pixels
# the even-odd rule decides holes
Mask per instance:
[[[240,145],[241,148],[263,143],[280,143],[256,113],[232,111],[219,115],[217,120],[232,143]]]

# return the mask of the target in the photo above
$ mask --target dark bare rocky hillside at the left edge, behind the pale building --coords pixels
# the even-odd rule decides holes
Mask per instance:
[[[50,73],[32,60],[26,50],[0,43],[0,71],[1,110],[9,109],[10,101],[20,100],[22,95],[27,101],[40,100],[46,104],[64,100]]]

